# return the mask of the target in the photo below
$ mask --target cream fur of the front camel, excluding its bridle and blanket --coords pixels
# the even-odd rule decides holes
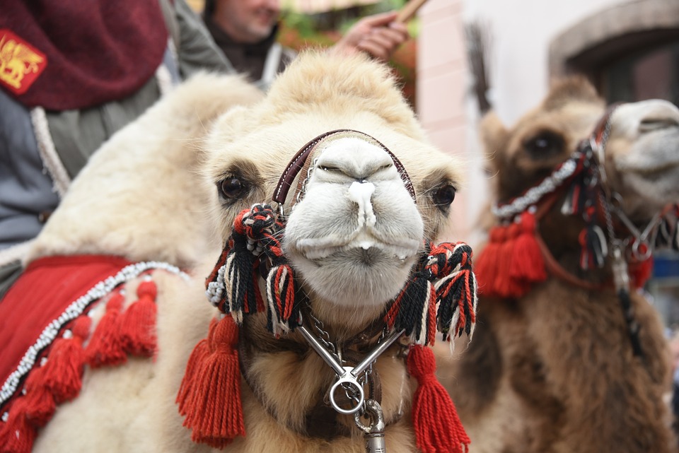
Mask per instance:
[[[35,452],[211,450],[192,442],[175,404],[192,348],[217,314],[204,294],[205,277],[236,214],[269,201],[286,163],[314,137],[356,129],[378,139],[405,167],[417,196],[416,205],[393,160],[360,136],[332,140],[314,156],[283,247],[301,276],[308,310],[338,346],[381,319],[423,241],[446,227],[459,166],[428,143],[388,68],[361,56],[304,54],[259,98],[233,77],[204,75],[180,86],[93,156],[37,237],[30,260],[122,254],[168,261],[190,278],[153,272],[156,357],[86,368],[80,396],[57,408]],[[214,119],[220,112],[226,113]],[[127,284],[128,293],[138,281]],[[309,432],[327,422],[312,410],[323,406],[335,374],[301,335],[275,339],[265,313],[243,323],[247,434],[224,451],[365,451],[352,416],[333,416],[330,436]],[[392,453],[417,449],[410,415],[415,385],[403,351],[395,343],[373,371]],[[351,353],[348,346],[345,352]]]

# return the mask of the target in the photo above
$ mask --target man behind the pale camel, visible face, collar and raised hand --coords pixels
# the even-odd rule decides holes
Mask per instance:
[[[266,89],[274,76],[296,56],[276,42],[281,13],[279,0],[206,0],[203,20],[216,44],[238,72],[248,73]],[[359,20],[332,47],[332,52],[367,52],[388,61],[409,35],[395,22],[397,12]]]

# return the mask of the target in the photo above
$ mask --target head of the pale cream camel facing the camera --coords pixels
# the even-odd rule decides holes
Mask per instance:
[[[243,209],[282,208],[297,300],[340,335],[383,314],[460,187],[459,165],[426,141],[388,69],[362,57],[303,55],[262,103],[219,119],[208,148],[224,241]]]

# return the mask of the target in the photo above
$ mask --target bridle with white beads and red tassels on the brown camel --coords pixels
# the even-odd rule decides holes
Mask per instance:
[[[611,117],[617,105],[606,110],[588,139],[557,165],[550,175],[514,199],[492,206],[498,224],[489,231],[489,243],[477,257],[475,271],[482,293],[501,298],[518,298],[531,286],[545,281],[547,273],[589,290],[615,289],[632,341],[635,355],[642,355],[639,325],[629,300],[630,280],[641,288],[651,273],[654,247],[678,248],[679,205],[667,206],[639,230],[620,209],[620,194],[608,187],[604,168]],[[591,283],[566,271],[540,237],[538,223],[552,206],[563,199],[561,213],[580,215],[585,226],[579,235],[580,269],[603,268],[612,261],[613,281]],[[625,239],[617,237],[615,216],[627,228]],[[632,278],[630,279],[630,273]]]

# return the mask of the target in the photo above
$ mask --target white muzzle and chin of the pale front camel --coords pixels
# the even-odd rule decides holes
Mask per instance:
[[[286,225],[286,254],[321,298],[343,307],[385,305],[407,280],[424,237],[393,160],[347,138],[320,151],[310,171]]]

